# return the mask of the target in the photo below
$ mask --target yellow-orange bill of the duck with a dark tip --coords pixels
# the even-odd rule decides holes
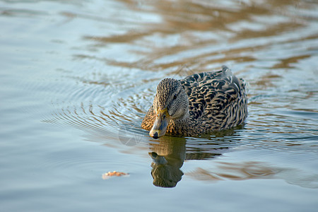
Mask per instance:
[[[159,137],[164,136],[169,122],[170,115],[168,114],[167,109],[158,110],[157,117],[155,118],[153,128],[151,128],[149,135],[153,137],[153,139],[158,139]]]

